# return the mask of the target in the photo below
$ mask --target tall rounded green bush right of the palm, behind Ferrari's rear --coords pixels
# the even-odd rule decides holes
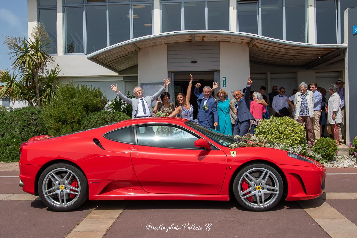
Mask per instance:
[[[59,85],[56,95],[56,100],[43,108],[44,122],[51,136],[81,130],[83,118],[101,111],[107,102],[99,88],[72,83]]]

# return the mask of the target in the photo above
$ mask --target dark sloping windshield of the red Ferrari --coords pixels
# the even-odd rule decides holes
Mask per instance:
[[[203,135],[207,136],[208,138],[210,138],[211,140],[217,142],[218,144],[220,144],[222,146],[228,147],[228,145],[230,143],[239,142],[237,139],[235,139],[231,136],[227,136],[227,135],[224,135],[224,134],[222,134],[216,130],[213,130],[211,128],[201,126],[200,124],[198,124],[194,121],[186,121],[185,124],[187,126],[192,127],[193,129],[201,132]]]

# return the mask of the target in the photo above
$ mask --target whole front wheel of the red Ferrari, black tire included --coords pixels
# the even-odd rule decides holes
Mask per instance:
[[[250,164],[235,177],[233,193],[238,203],[247,210],[267,211],[280,201],[283,180],[276,169],[267,164]]]

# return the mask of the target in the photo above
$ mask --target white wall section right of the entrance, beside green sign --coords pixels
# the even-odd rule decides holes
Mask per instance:
[[[242,90],[246,87],[250,75],[249,48],[245,44],[220,42],[220,54],[220,86],[231,98],[235,90]],[[226,77],[226,87],[223,87],[223,77]]]

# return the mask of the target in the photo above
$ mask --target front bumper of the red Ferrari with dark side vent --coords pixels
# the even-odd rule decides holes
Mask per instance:
[[[286,201],[320,197],[325,190],[326,167],[280,166],[288,183]]]

